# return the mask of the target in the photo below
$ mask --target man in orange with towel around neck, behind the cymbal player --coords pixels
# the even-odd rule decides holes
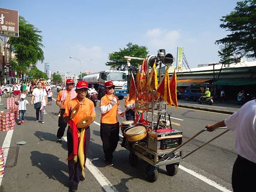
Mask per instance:
[[[65,108],[67,106],[67,102],[76,97],[76,91],[73,89],[75,82],[73,79],[67,79],[66,89],[61,90],[58,93],[58,97],[56,99],[56,104],[60,108],[61,116],[58,119],[58,131],[57,131],[57,142],[61,143],[61,137],[63,137],[65,128],[67,127],[67,123],[63,120],[63,114],[65,113]]]

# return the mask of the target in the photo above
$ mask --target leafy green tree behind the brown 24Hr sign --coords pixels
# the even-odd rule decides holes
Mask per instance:
[[[44,45],[39,33],[39,29],[19,16],[19,37],[11,37],[8,41],[15,53],[15,58],[10,61],[13,70],[26,73],[31,64],[44,61],[44,52],[41,49]]]

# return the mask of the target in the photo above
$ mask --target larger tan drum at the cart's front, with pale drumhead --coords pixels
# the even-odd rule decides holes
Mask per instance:
[[[143,126],[136,126],[125,130],[125,137],[130,142],[143,140],[147,135],[147,131]]]

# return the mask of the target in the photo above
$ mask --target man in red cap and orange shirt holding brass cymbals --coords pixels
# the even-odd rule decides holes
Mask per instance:
[[[95,108],[93,102],[86,98],[88,84],[86,81],[79,81],[76,84],[77,96],[67,102],[67,107],[63,115],[64,122],[69,124],[67,129],[67,148],[68,148],[68,172],[70,191],[76,191],[79,181],[84,180],[85,161],[88,154],[90,143],[90,123],[95,119]],[[75,116],[71,118],[71,111],[79,105]],[[85,127],[79,127],[81,122],[84,122],[84,117],[91,117],[91,122],[88,122]],[[79,127],[79,128],[78,128]]]

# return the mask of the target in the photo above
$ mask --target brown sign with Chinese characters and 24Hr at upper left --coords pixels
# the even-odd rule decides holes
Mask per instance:
[[[19,37],[19,12],[0,8],[0,35]]]

